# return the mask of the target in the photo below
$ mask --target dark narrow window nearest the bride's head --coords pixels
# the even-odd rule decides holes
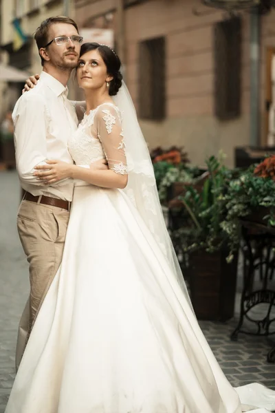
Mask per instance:
[[[165,39],[159,37],[140,43],[140,117],[162,120],[166,115]]]

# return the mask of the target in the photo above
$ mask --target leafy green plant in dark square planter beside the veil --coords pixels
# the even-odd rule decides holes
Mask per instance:
[[[173,201],[178,222],[171,236],[176,250],[181,245],[187,257],[183,270],[189,277],[197,317],[224,321],[234,315],[236,292],[237,256],[227,261],[229,244],[236,250],[239,240],[230,240],[230,233],[221,222],[228,212],[225,195],[236,171],[223,166],[214,156],[206,160],[206,165],[206,178],[186,185]]]

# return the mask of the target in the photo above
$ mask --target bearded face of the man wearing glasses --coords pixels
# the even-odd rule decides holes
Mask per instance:
[[[47,43],[59,36],[79,36],[78,31],[69,23],[54,23],[48,33]],[[45,48],[45,52],[52,65],[61,69],[74,69],[78,64],[80,43],[72,42],[71,39],[64,44],[57,45],[53,41]]]

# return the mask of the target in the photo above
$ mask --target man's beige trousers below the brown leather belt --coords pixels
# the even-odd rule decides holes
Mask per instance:
[[[25,200],[20,204],[17,228],[30,263],[30,297],[19,323],[17,370],[43,299],[61,264],[68,222],[69,212],[65,209]]]

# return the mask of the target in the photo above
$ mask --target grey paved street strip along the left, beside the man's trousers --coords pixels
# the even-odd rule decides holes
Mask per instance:
[[[20,187],[15,171],[1,171],[0,213],[0,412],[12,388],[17,328],[28,297],[28,263],[17,233]]]

